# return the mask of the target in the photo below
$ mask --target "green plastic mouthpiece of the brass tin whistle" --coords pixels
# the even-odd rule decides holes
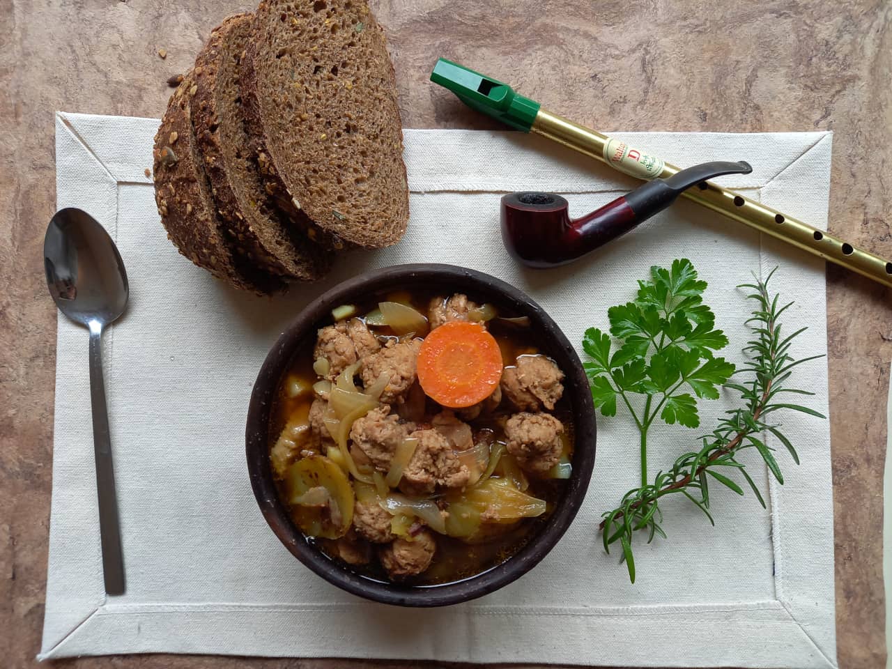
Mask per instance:
[[[445,58],[437,61],[431,72],[431,81],[448,88],[471,109],[483,111],[517,130],[529,132],[539,112],[539,103],[517,95],[508,84]]]

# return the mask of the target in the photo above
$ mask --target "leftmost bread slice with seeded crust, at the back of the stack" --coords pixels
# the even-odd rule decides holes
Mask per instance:
[[[215,277],[255,293],[280,291],[285,284],[257,269],[233,244],[235,232],[217,216],[189,120],[195,89],[190,71],[170,96],[155,135],[153,175],[161,223],[179,252]]]

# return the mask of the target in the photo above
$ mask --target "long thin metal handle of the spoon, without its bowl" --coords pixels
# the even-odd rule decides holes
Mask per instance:
[[[103,549],[105,591],[110,595],[124,592],[124,558],[120,549],[118,500],[114,490],[114,466],[111,461],[111,436],[103,383],[103,327],[90,323],[90,404],[93,408],[93,446],[96,459],[96,496],[99,500],[99,538]]]

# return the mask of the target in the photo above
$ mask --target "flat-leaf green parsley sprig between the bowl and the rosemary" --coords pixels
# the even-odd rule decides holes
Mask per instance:
[[[690,260],[672,268],[650,268],[639,281],[634,301],[607,310],[610,335],[621,340],[611,354],[610,335],[592,327],[582,349],[591,356],[582,367],[591,379],[591,396],[604,416],[616,415],[617,398],[632,414],[640,432],[641,485],[648,484],[648,430],[659,417],[670,425],[700,425],[697,400],[715,400],[718,387],[734,373],[734,365],[714,357],[728,345],[715,329],[715,315],[703,303],[706,281],[698,280]],[[633,408],[632,395],[644,395],[643,409]],[[634,402],[640,404],[640,402]]]

